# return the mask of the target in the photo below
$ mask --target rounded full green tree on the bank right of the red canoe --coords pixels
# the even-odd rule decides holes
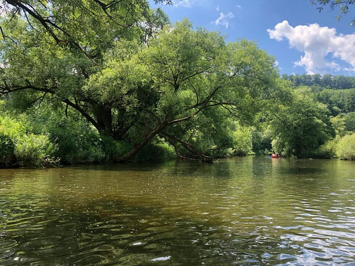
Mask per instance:
[[[315,150],[335,136],[324,104],[306,94],[295,94],[287,105],[272,110],[273,150],[283,155],[300,155]]]

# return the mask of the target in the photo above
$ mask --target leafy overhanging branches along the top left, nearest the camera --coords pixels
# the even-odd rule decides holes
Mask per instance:
[[[144,0],[1,0],[6,30],[19,18],[24,27],[33,34],[33,43],[40,46],[54,43],[73,54],[85,55],[95,65],[100,64],[100,53],[110,49],[120,38],[137,38],[142,43],[154,37],[168,22],[162,9],[153,11]],[[171,0],[156,0],[155,4],[171,5]],[[144,23],[143,23],[144,22]],[[7,35],[8,36],[8,35]],[[10,40],[23,41],[19,34]],[[5,38],[4,38],[5,39]],[[83,49],[82,47],[85,47]]]

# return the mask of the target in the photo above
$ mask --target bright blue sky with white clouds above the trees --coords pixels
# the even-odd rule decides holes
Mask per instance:
[[[355,9],[340,21],[338,11],[319,13],[309,0],[175,0],[163,9],[171,22],[188,17],[222,30],[228,40],[256,40],[276,57],[280,73],[355,75],[355,27],[349,25]]]

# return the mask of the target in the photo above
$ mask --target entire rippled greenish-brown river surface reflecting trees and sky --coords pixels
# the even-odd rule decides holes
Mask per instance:
[[[0,265],[355,265],[355,162],[0,170]]]

